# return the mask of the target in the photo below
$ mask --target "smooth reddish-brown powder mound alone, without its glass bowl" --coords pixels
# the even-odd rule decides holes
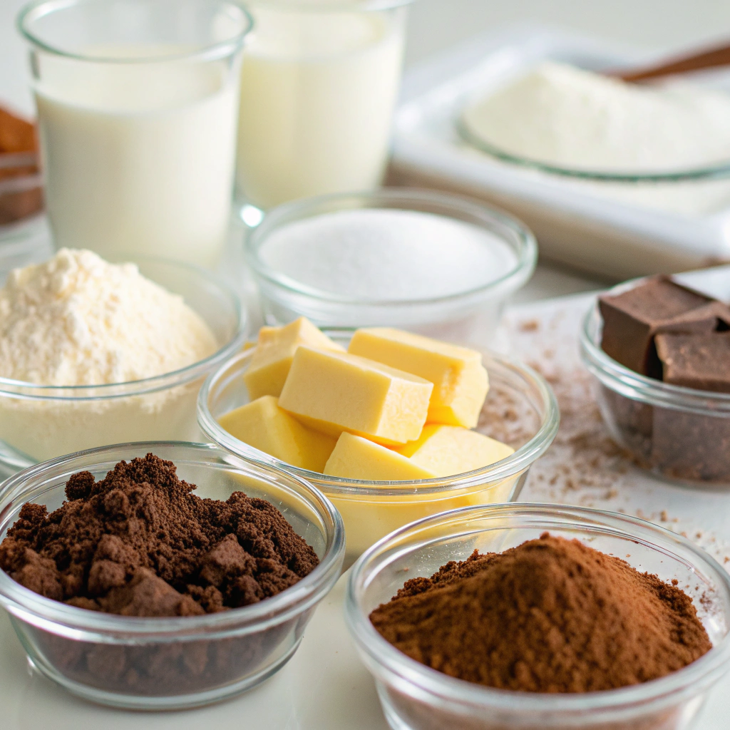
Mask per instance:
[[[647,682],[712,648],[680,588],[547,533],[409,580],[370,621],[433,669],[530,692]]]

